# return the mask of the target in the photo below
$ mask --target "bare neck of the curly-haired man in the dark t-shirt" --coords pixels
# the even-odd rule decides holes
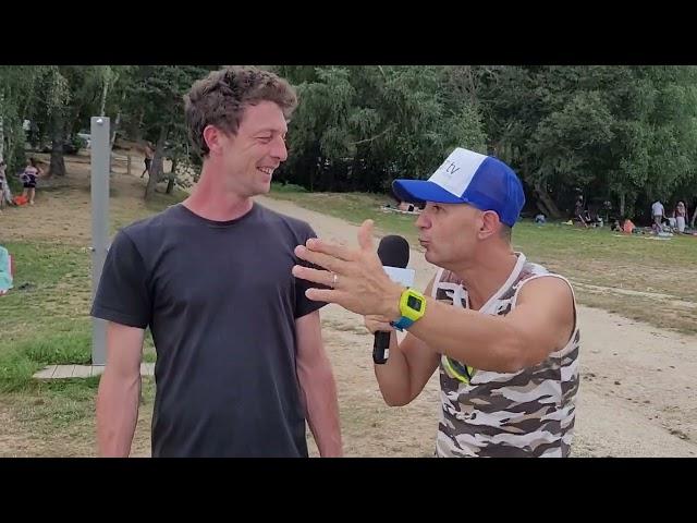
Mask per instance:
[[[182,204],[192,212],[213,221],[230,221],[243,217],[254,205],[248,196],[225,186],[221,173],[204,165],[198,183]]]

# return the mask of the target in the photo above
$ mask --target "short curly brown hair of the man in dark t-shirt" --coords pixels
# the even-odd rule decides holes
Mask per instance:
[[[259,101],[277,104],[288,120],[297,107],[297,95],[288,81],[253,66],[224,68],[195,82],[184,96],[192,143],[203,156],[208,155],[204,129],[215,125],[236,134],[245,108]]]

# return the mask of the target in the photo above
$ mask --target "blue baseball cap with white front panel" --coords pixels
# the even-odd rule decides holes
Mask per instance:
[[[509,227],[525,205],[523,184],[513,169],[498,158],[461,147],[428,180],[394,180],[392,190],[402,202],[469,204],[493,210]]]

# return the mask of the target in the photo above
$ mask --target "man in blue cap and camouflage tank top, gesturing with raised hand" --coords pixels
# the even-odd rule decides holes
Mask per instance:
[[[442,412],[439,457],[566,457],[578,390],[579,329],[571,284],[511,246],[525,204],[521,181],[502,161],[457,148],[428,181],[395,180],[416,220],[426,259],[439,267],[424,294],[393,282],[372,246],[309,240],[297,278],[331,289],[307,297],[365,316],[392,331],[389,358],[375,366],[390,405],[405,405],[438,368]],[[394,330],[407,330],[398,343]]]

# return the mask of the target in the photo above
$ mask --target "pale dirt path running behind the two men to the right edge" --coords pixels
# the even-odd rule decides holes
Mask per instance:
[[[308,221],[319,236],[356,244],[355,226],[294,205],[258,198],[262,205]],[[433,266],[412,251],[409,267],[426,287]],[[575,455],[697,455],[697,338],[579,306],[582,386]],[[325,342],[337,375],[342,417],[365,434],[345,435],[351,455],[429,455],[438,419],[435,376],[411,405],[384,406],[370,351],[371,337],[358,316],[330,305],[322,312]],[[388,438],[389,436],[389,438]],[[355,446],[354,446],[355,440]]]

